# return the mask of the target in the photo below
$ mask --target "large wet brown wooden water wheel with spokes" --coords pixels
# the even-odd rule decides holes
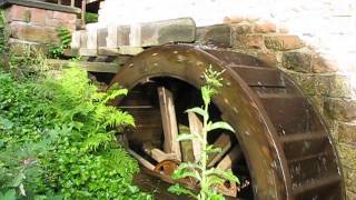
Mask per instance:
[[[236,133],[209,136],[209,142],[222,149],[211,156],[209,166],[231,169],[244,184],[221,191],[243,199],[345,199],[332,138],[306,97],[277,68],[224,50],[156,47],[134,57],[116,74],[111,83],[130,92],[115,104],[137,120],[127,139],[130,151],[147,162],[145,168],[165,177],[179,161],[195,159],[194,144],[171,144],[169,136],[199,129],[199,119],[184,111],[201,106],[201,74],[210,64],[225,72],[209,112],[214,120],[229,122]],[[167,177],[162,180],[171,183]]]

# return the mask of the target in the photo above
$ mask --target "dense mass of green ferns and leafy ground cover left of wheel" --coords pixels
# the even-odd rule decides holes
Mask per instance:
[[[0,69],[1,70],[1,69]],[[107,106],[87,72],[13,79],[0,71],[0,199],[149,199],[116,134],[134,118]]]

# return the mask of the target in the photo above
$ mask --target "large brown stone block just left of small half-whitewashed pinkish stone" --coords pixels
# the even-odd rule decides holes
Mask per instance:
[[[281,57],[281,66],[298,72],[309,72],[312,54],[303,51],[284,52]]]

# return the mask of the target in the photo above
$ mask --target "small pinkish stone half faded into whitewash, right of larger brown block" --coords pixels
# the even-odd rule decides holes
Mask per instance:
[[[337,64],[320,54],[314,54],[312,61],[312,71],[315,73],[336,72]]]

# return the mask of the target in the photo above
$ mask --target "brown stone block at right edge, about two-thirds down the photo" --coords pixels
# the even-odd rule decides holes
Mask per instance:
[[[349,143],[356,148],[356,123],[338,122],[337,124],[338,140]],[[355,179],[356,180],[356,179]]]

